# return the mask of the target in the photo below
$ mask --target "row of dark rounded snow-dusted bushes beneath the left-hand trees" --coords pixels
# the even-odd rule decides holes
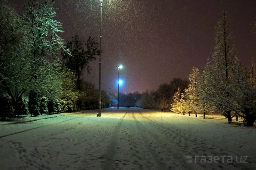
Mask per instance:
[[[16,106],[7,94],[0,95],[0,118],[15,118],[19,115],[42,115],[78,111],[76,101],[54,100],[46,97],[38,98],[36,93],[29,93],[28,98],[20,98]]]

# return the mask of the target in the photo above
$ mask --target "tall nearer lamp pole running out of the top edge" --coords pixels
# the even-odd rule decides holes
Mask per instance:
[[[102,29],[102,2],[103,0],[100,0],[100,57],[99,57],[99,110],[97,117],[101,116],[101,29]]]

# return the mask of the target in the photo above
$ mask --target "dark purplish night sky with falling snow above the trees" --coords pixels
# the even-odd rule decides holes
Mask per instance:
[[[9,0],[21,10],[26,0]],[[64,33],[99,41],[100,0],[55,0]],[[157,90],[173,78],[188,79],[192,67],[206,66],[215,45],[218,13],[228,12],[230,30],[240,61],[250,66],[256,56],[256,0],[103,0],[102,90]],[[98,88],[98,57],[84,79]]]

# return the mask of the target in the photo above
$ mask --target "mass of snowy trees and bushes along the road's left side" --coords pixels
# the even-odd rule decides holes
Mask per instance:
[[[76,35],[66,43],[52,0],[28,0],[17,14],[0,2],[0,117],[71,112],[98,107],[98,90],[82,80],[98,43]],[[112,100],[102,92],[102,107]]]

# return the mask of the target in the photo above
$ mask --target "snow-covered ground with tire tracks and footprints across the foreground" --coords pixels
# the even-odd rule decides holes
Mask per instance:
[[[2,122],[0,169],[256,169],[255,127],[140,108],[96,113]]]

